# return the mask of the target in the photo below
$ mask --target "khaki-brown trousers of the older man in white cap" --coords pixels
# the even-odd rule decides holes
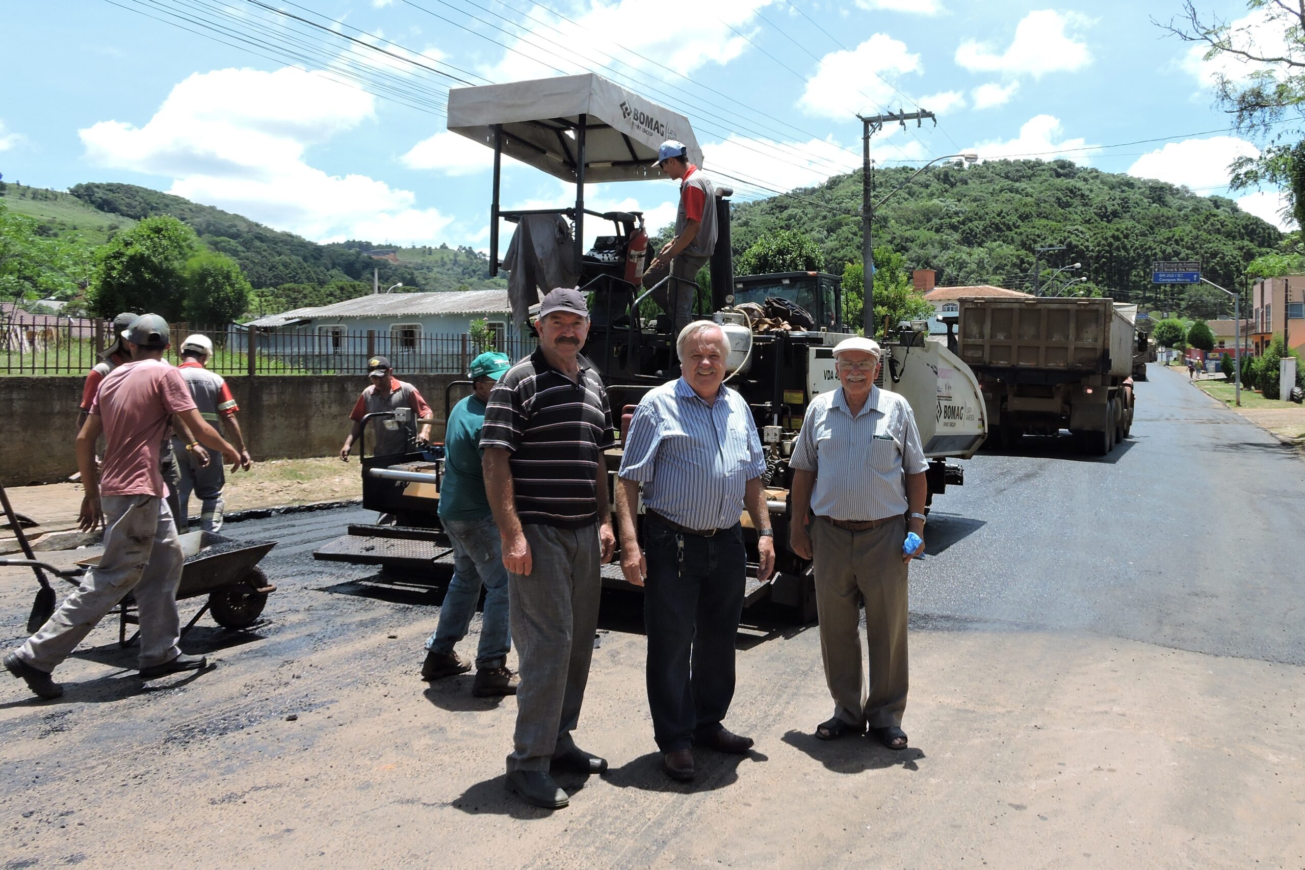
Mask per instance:
[[[820,650],[834,715],[856,727],[900,727],[908,683],[906,522],[850,532],[816,518],[810,537]],[[868,670],[861,667],[859,631],[863,597]]]

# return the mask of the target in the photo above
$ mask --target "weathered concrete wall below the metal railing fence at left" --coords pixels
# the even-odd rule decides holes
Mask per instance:
[[[425,397],[435,416],[448,415],[444,389],[461,374],[405,374]],[[55,483],[77,471],[73,451],[84,378],[0,377],[0,484]],[[238,420],[256,462],[334,455],[348,433],[348,412],[367,386],[360,376],[228,377],[240,404]],[[453,391],[457,402],[466,387]],[[432,433],[444,440],[444,425]]]

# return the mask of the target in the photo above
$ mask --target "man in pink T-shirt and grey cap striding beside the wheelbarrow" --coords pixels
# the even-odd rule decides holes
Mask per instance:
[[[4,667],[42,698],[64,694],[50,673],[90,634],[128,592],[136,597],[141,627],[140,676],[154,680],[207,664],[177,648],[181,618],[176,588],[181,582],[181,544],[163,500],[159,451],[168,417],[187,425],[232,464],[240,457],[194,408],[181,374],[163,361],[167,321],[142,314],[123,335],[133,360],[119,365],[95,394],[90,416],[77,434],[82,475],[80,527],[104,526],[104,553],[76,592],[33,637],[5,656]],[[95,473],[95,441],[104,433],[104,463]]]

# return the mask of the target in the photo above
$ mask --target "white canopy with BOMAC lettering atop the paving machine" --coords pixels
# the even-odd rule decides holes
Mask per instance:
[[[576,129],[586,116],[585,183],[637,181],[656,176],[658,147],[679,140],[689,160],[702,149],[689,119],[602,76],[560,76],[449,90],[449,129],[493,147],[502,125],[502,151],[565,181],[576,180]]]

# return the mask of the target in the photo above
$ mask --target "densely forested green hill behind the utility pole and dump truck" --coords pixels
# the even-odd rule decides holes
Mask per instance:
[[[1283,237],[1225,197],[1069,160],[930,167],[908,183],[912,172],[876,171],[876,202],[900,190],[876,210],[873,240],[903,254],[907,269],[936,270],[938,284],[1021,290],[1031,280],[1034,249],[1065,245],[1043,254],[1044,278],[1082,262],[1073,274],[1091,287],[1139,301],[1154,297],[1152,260],[1199,260],[1215,283],[1241,287],[1250,261]],[[735,256],[763,232],[799,230],[821,247],[826,270],[860,262],[861,173],[793,194],[735,206]]]

